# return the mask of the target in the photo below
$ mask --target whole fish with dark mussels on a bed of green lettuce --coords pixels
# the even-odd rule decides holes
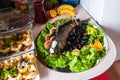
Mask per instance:
[[[63,18],[47,23],[36,39],[38,58],[60,72],[82,72],[106,55],[103,30],[88,20]]]

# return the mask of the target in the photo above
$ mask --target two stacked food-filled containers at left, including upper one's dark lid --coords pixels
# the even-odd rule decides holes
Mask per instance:
[[[0,80],[40,80],[33,21],[28,14],[6,17],[0,20]]]

